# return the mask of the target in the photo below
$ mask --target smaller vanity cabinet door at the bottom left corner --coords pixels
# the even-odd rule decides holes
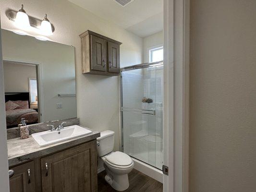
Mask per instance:
[[[35,192],[35,173],[33,161],[13,168],[10,178],[10,192]]]

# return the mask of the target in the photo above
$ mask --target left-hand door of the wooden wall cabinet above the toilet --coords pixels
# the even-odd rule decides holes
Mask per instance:
[[[97,36],[91,36],[91,69],[107,71],[107,41]]]

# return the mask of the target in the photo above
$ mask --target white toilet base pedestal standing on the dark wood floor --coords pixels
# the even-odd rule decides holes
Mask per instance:
[[[106,169],[107,175],[105,176],[105,180],[110,186],[116,191],[122,192],[128,189],[129,180],[128,174],[117,175],[113,174],[110,169],[104,164],[104,168]]]

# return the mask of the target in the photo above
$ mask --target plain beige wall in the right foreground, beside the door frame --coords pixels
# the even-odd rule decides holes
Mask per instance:
[[[256,192],[256,0],[191,1],[190,192]]]

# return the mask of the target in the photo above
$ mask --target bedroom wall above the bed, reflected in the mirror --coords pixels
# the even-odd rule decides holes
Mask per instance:
[[[3,62],[4,92],[29,92],[28,78],[37,78],[36,66]]]

